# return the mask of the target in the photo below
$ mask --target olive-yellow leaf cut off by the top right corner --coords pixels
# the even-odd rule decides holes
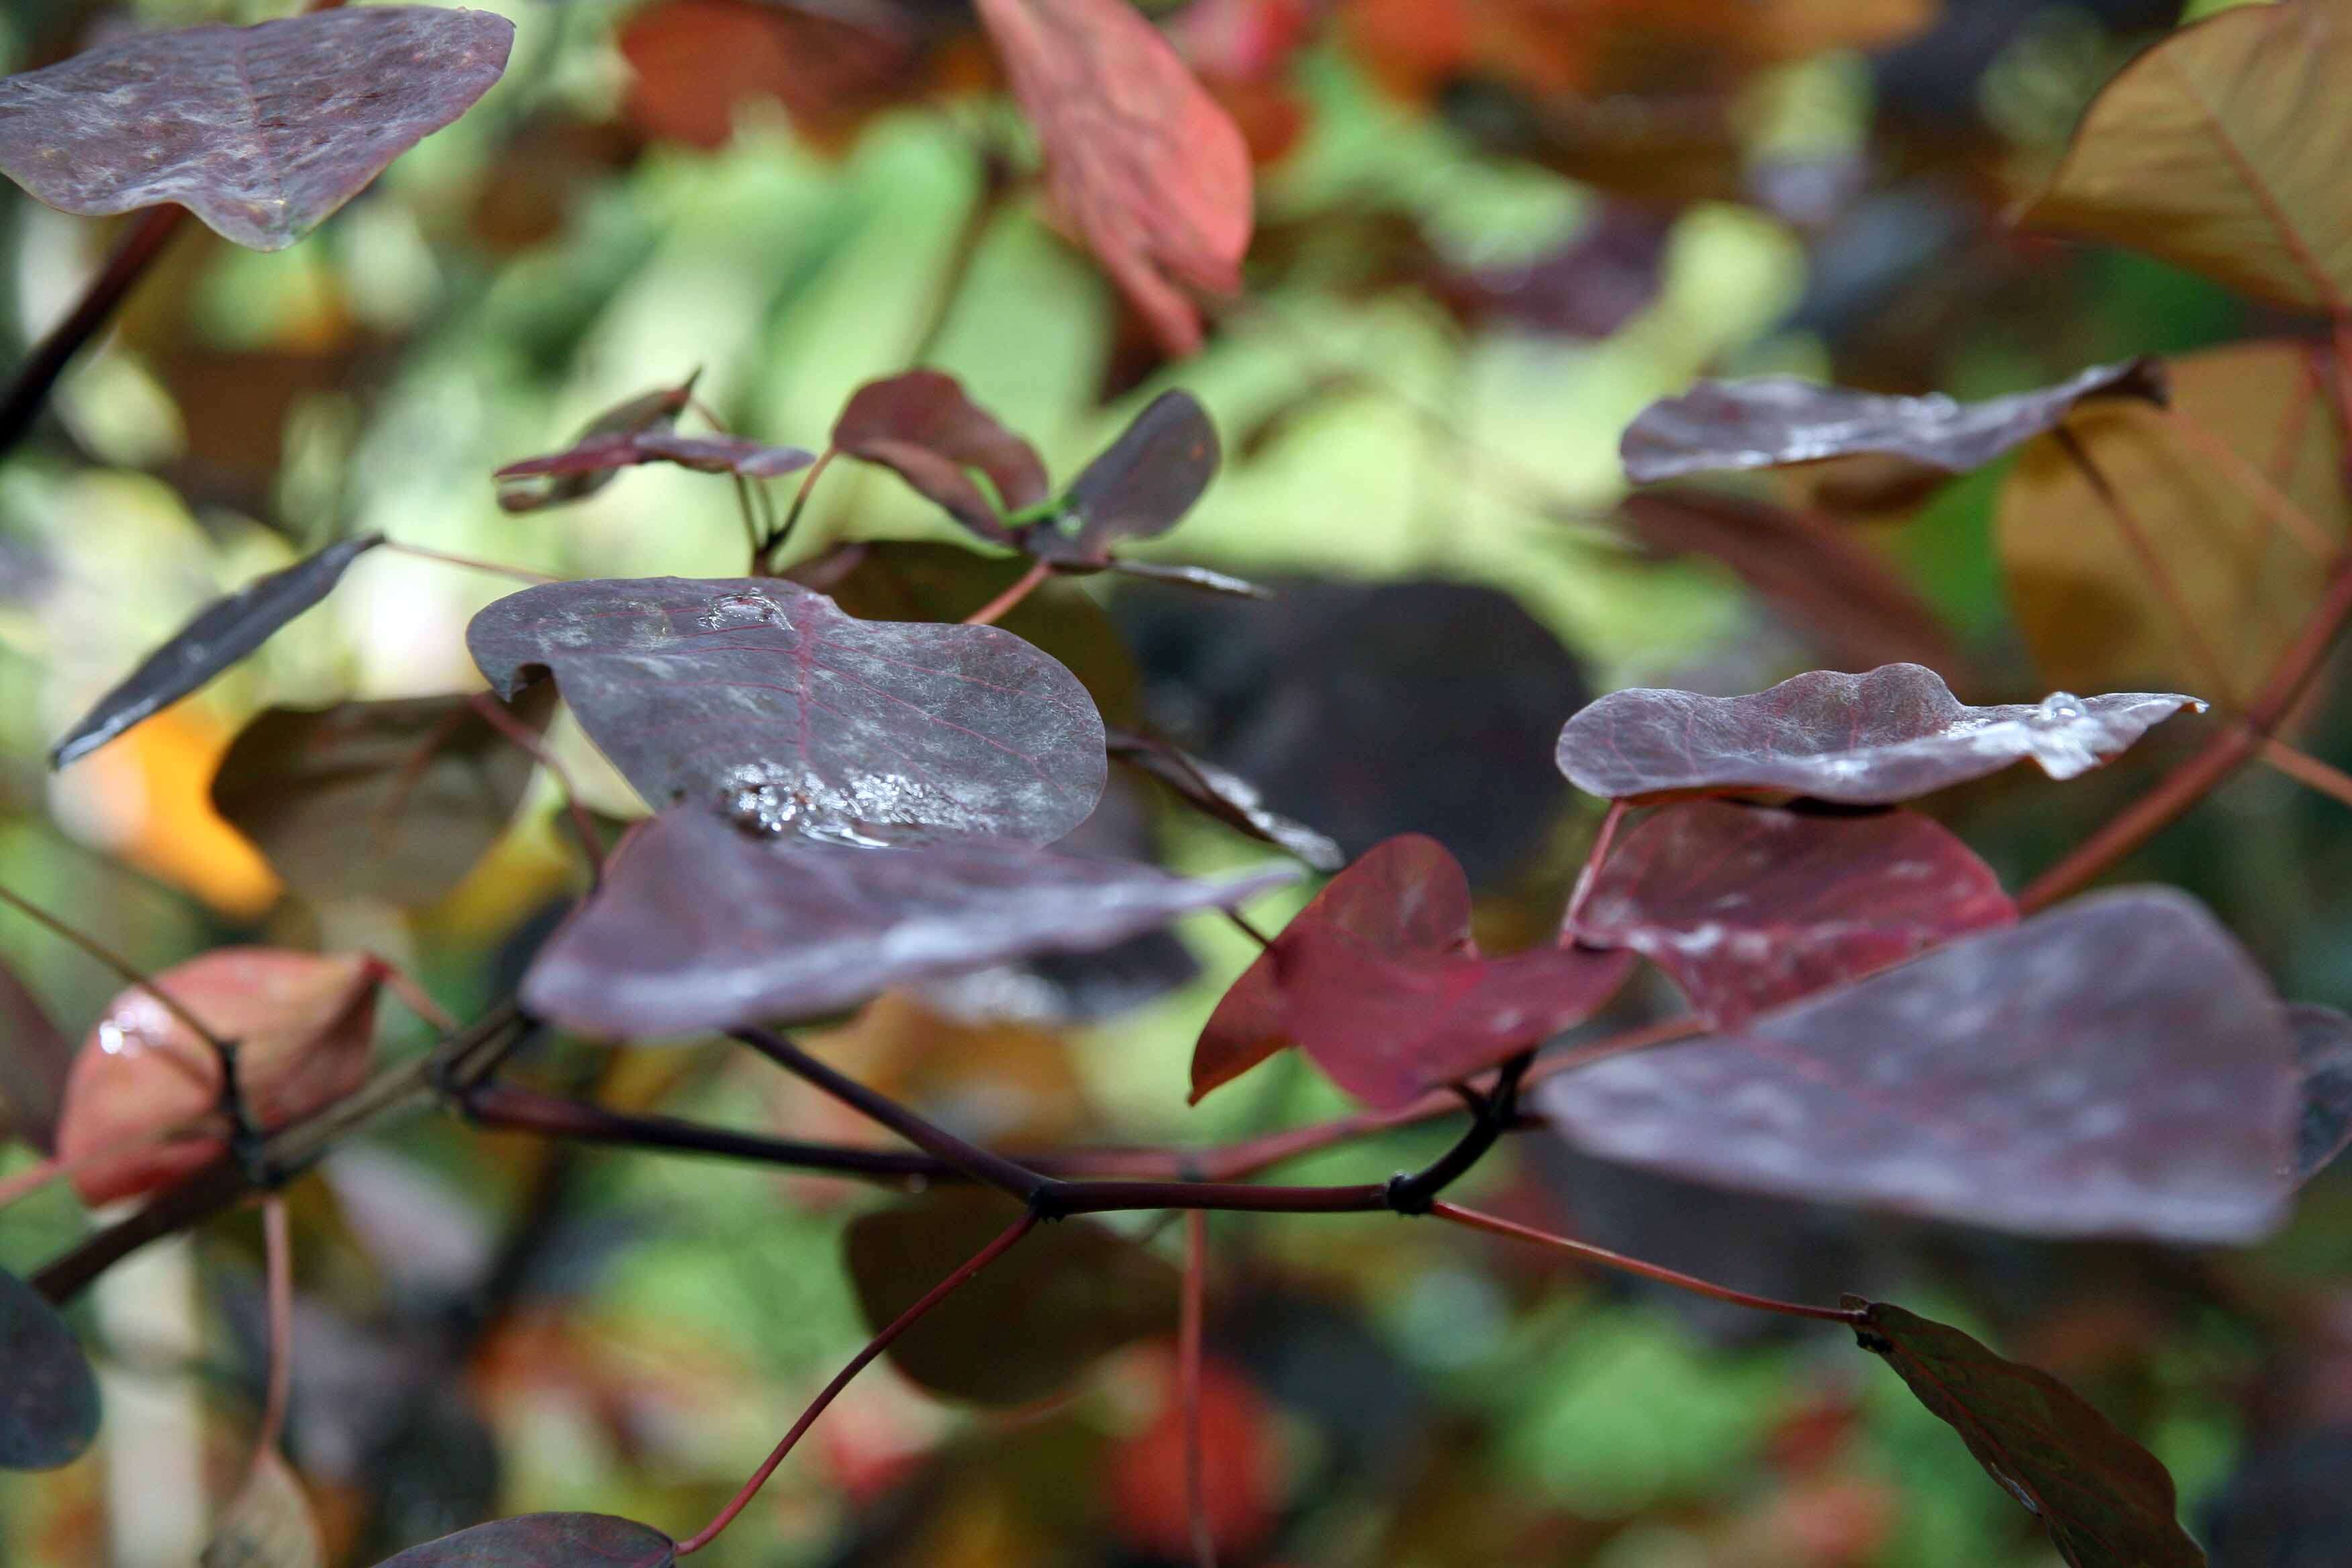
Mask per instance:
[[[2324,0],[2241,5],[2180,28],[2100,89],[2023,221],[2343,320],[2347,73],[2352,28]]]

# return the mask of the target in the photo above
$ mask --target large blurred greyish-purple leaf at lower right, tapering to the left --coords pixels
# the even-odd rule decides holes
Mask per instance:
[[[2249,1241],[2281,1215],[2286,1016],[2190,898],[2129,889],[1543,1084],[1569,1143],[2002,1229]]]

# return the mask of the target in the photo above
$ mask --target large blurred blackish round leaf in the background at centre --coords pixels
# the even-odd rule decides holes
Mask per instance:
[[[1545,764],[1585,682],[1559,637],[1472,583],[1277,588],[1120,590],[1152,729],[1350,856],[1425,832],[1475,886],[1519,875],[1569,799]]]

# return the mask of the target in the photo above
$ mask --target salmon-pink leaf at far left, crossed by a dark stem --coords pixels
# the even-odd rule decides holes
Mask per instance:
[[[238,1086],[261,1128],[299,1121],[367,1081],[381,980],[383,966],[367,954],[285,947],[216,947],[155,976],[238,1048]],[[87,1161],[73,1171],[85,1204],[153,1192],[219,1159],[219,1124],[162,1140],[219,1103],[212,1046],[153,992],[129,987],[106,1004],[73,1058],[56,1157]]]

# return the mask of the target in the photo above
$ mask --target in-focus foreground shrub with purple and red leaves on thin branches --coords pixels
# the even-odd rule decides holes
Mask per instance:
[[[1249,237],[1247,155],[1225,113],[1127,5],[978,9],[1040,125],[1049,197],[1160,341],[1197,346],[1200,308],[1185,289],[1237,287]],[[136,35],[0,85],[0,167],[68,212],[169,214],[179,207],[158,202],[176,202],[238,242],[278,247],[463,113],[499,75],[503,49],[506,24],[423,7]],[[1813,670],[1733,698],[1632,689],[1585,705],[1562,689],[1557,769],[1606,802],[1606,816],[1555,931],[1519,950],[1486,952],[1472,938],[1472,882],[1446,844],[1404,835],[1348,858],[1272,811],[1251,780],[1138,717],[1117,635],[1056,578],[1110,571],[1263,592],[1120,555],[1127,541],[1176,529],[1218,470],[1218,435],[1181,390],[1145,404],[1061,489],[1021,435],[931,369],[861,388],[811,447],[682,433],[694,418],[715,425],[687,378],[612,409],[562,451],[499,470],[499,498],[515,512],[562,508],[642,463],[724,477],[748,531],[746,576],[522,588],[468,628],[489,693],[270,710],[230,748],[214,799],[296,889],[423,903],[513,816],[562,703],[652,816],[614,842],[574,809],[593,889],[529,957],[515,994],[480,1018],[437,1020],[445,1037],[419,1063],[372,1063],[381,987],[426,1016],[435,1009],[367,954],[219,950],[143,976],[92,943],[127,990],[80,1048],[7,980],[14,1032],[0,1048],[0,1091],[14,1131],[49,1157],[45,1175],[71,1178],[92,1204],[143,1206],[31,1281],[0,1274],[0,1465],[66,1462],[96,1429],[92,1373],[56,1307],[136,1246],[254,1197],[270,1213],[282,1378],[289,1262],[275,1194],[341,1135],[433,1098],[485,1128],[917,1182],[922,1197],[851,1225],[847,1267],[873,1340],[706,1528],[670,1540],[614,1516],[534,1514],[416,1544],[393,1559],[405,1568],[659,1568],[689,1556],[884,1354],[941,1396],[1023,1403],[1122,1345],[1178,1333],[1197,1476],[1204,1211],[1437,1218],[1846,1328],[2042,1519],[2067,1563],[2204,1561],[2147,1450],[2049,1375],[1957,1328],[1860,1298],[1745,1295],[1456,1206],[1446,1190],[1503,1138],[1550,1128],[1595,1154],[1729,1187],[2039,1237],[2211,1246],[2277,1227],[2298,1185],[2352,1138],[2352,1020],[2279,999],[2185,893],[2077,896],[2279,745],[2274,731],[2352,616],[2352,562],[2312,515],[2345,505],[2343,468],[2324,475],[2333,491],[2314,505],[2249,463],[2220,416],[2223,428],[2206,430],[2197,407],[2216,395],[2209,371],[2234,355],[2326,404],[2312,440],[2336,454],[2352,444],[2352,226],[2336,183],[2307,183],[2312,160],[2288,146],[2298,108],[2340,92],[2347,49],[2352,19],[2324,0],[2183,31],[2091,108],[2027,212],[2147,240],[2326,315],[2333,339],[2281,339],[2171,371],[2152,360],[2100,367],[1987,404],[1700,383],[1642,414],[1623,444],[1637,482],[1875,456],[1907,465],[1917,484],[2023,447],[2004,527],[2112,527],[2143,555],[2166,614],[2185,592],[2143,527],[2171,505],[2147,458],[2154,447],[2187,451],[2201,484],[2314,555],[2288,635],[2260,649],[2258,668],[2192,642],[2183,684],[2199,684],[2204,701],[2058,691],[1969,705],[1915,663]],[[2192,146],[2216,134],[2239,146],[2234,160]],[[2199,179],[2180,179],[2183,167]],[[162,223],[26,369],[9,437],[139,277]],[[960,524],[971,550],[856,543],[795,559],[795,522],[840,458],[894,473]],[[800,475],[797,489],[776,505],[767,487],[786,475]],[[334,592],[353,559],[397,548],[379,534],[341,538],[216,602],[106,693],[54,762],[188,696]],[[2072,545],[2025,543],[2018,555],[2060,548]],[[2018,592],[2027,623],[2056,637],[2063,611],[2032,609],[2049,583],[2025,574]],[[2204,748],[2016,896],[1969,844],[1907,809],[2020,762],[2063,788],[2209,703],[2220,712]],[[1359,1114],[1207,1152],[1004,1152],[779,1032],[884,990],[1110,950],[1298,875],[1270,863],[1181,877],[1063,844],[1094,818],[1112,762],[1336,872],[1279,933],[1258,936],[1263,950],[1200,1037],[1192,1098],[1296,1048],[1362,1103]],[[1496,792],[1536,783],[1484,780]],[[1682,1016],[1545,1048],[1644,964],[1679,987]],[[908,1150],[722,1133],[503,1077],[548,1027],[602,1041],[727,1034]],[[1355,1185],[1249,1180],[1310,1150],[1435,1119],[1456,1119],[1461,1133],[1418,1171]],[[1185,1267],[1089,1220],[1120,1211],[1192,1215]],[[299,1488],[275,1458],[280,1418],[282,1385],[247,1495],[226,1516],[223,1561],[245,1561],[240,1533],[282,1523],[289,1493],[299,1514]]]

